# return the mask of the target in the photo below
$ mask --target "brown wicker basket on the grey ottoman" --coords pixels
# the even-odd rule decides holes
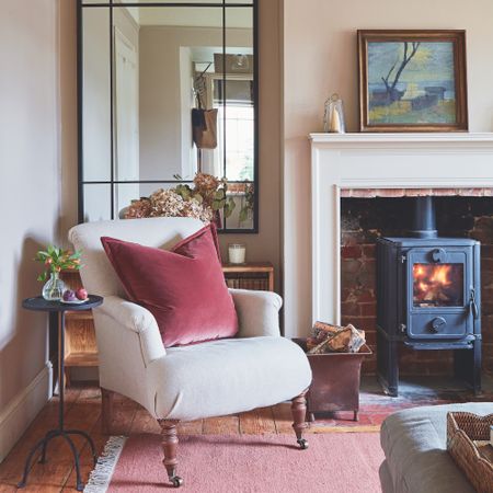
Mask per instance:
[[[493,459],[490,442],[493,414],[447,414],[447,449],[468,480],[481,493],[493,493]],[[482,444],[481,444],[482,442]],[[484,447],[485,452],[481,452]]]

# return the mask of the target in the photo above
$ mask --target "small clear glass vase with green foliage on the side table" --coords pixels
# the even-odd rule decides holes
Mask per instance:
[[[42,295],[48,301],[60,300],[65,291],[65,283],[60,279],[60,272],[64,268],[79,271],[81,251],[70,252],[59,246],[48,245],[46,250],[36,253],[35,261],[45,265],[45,272],[37,277],[37,280],[45,283]]]

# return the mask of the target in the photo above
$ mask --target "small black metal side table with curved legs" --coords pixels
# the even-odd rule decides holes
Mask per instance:
[[[59,406],[58,406],[58,428],[50,429],[46,433],[45,437],[41,439],[34,448],[31,450],[30,455],[27,456],[27,459],[25,461],[24,467],[24,474],[22,477],[21,482],[18,484],[18,488],[24,488],[27,482],[27,475],[31,470],[31,461],[33,460],[34,455],[36,451],[42,448],[42,455],[39,459],[39,463],[45,463],[46,461],[46,448],[48,446],[48,443],[51,438],[55,438],[57,436],[61,436],[65,438],[67,444],[69,445],[72,455],[73,460],[76,461],[76,475],[77,475],[77,490],[82,491],[84,485],[82,483],[82,480],[80,478],[80,468],[79,468],[79,454],[77,451],[76,445],[73,444],[73,440],[70,438],[70,435],[81,435],[87,440],[89,446],[91,447],[92,457],[94,459],[94,465],[96,462],[96,455],[95,455],[95,448],[94,444],[91,439],[91,437],[79,429],[65,429],[64,425],[64,412],[65,412],[65,405],[64,405],[64,393],[65,393],[65,386],[64,386],[64,370],[65,370],[65,312],[70,311],[82,311],[82,310],[91,310],[92,308],[99,307],[102,305],[103,298],[101,296],[93,296],[90,295],[88,300],[80,305],[74,303],[64,303],[61,301],[47,301],[42,296],[38,296],[36,298],[27,298],[22,302],[22,307],[27,310],[36,310],[36,311],[46,311],[50,314],[50,321],[54,320],[53,316],[58,316],[56,319],[58,319],[58,388],[59,388]]]

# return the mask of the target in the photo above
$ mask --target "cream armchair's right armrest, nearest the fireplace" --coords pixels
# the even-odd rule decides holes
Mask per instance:
[[[279,336],[283,299],[271,291],[230,289],[240,324],[239,337]]]

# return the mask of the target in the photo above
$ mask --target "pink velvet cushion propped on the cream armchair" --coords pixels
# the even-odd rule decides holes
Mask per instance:
[[[171,251],[101,238],[131,301],[156,318],[165,347],[231,337],[238,319],[210,227]]]

